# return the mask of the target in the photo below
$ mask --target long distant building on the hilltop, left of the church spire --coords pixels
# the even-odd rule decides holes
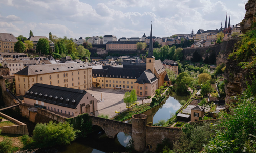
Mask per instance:
[[[108,51],[136,51],[137,43],[143,41],[109,41],[106,43]]]

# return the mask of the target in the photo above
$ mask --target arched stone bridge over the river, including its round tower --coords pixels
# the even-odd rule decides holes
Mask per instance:
[[[180,128],[147,126],[147,116],[135,114],[132,116],[132,124],[118,122],[110,119],[90,116],[92,125],[101,127],[109,138],[115,138],[119,132],[129,134],[134,141],[134,149],[144,152],[146,149],[154,152],[157,144],[167,138],[170,141],[176,139]]]

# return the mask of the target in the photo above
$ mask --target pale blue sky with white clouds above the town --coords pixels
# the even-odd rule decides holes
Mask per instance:
[[[194,34],[240,23],[247,0],[0,0],[0,33],[68,38]],[[228,22],[228,21],[227,21]]]

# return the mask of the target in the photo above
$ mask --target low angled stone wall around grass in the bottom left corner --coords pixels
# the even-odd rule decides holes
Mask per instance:
[[[7,116],[3,113],[0,113],[0,116],[6,118],[16,124],[13,126],[0,127],[1,133],[20,134],[20,135],[28,135],[29,134],[26,124],[14,119],[10,116]]]

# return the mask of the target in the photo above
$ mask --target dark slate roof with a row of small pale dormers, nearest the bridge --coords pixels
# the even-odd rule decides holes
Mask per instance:
[[[23,97],[76,109],[86,93],[80,89],[35,83]]]

